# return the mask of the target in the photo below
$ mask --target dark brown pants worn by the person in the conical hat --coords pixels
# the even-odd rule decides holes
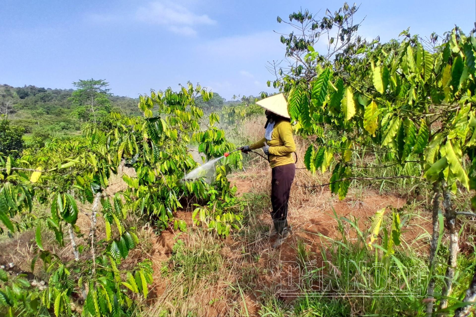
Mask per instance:
[[[294,163],[276,166],[271,169],[271,218],[284,221],[288,217],[289,192],[296,174]]]

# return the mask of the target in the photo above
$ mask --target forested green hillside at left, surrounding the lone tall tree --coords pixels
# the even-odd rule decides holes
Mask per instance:
[[[0,115],[6,115],[12,124],[24,127],[32,137],[45,139],[75,134],[90,118],[86,96],[78,93],[84,88],[51,89],[4,84],[0,86]],[[96,112],[116,110],[127,115],[139,114],[138,99],[114,96],[108,91],[104,94],[106,98],[98,102]]]

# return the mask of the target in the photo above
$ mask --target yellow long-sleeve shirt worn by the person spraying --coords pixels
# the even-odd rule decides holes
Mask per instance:
[[[251,150],[269,145],[269,166],[271,168],[294,163],[293,153],[296,152],[296,144],[293,139],[293,129],[288,121],[278,121],[274,124],[271,140],[262,138],[249,146]]]

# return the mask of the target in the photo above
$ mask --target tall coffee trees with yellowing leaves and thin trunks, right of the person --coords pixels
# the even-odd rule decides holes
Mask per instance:
[[[298,134],[311,141],[304,163],[312,172],[332,171],[330,191],[344,199],[349,185],[358,180],[412,178],[433,187],[433,235],[429,256],[427,314],[433,312],[435,258],[441,241],[439,197],[448,230],[449,255],[439,309],[447,308],[453,288],[458,254],[458,214],[475,216],[476,189],[476,38],[459,28],[421,41],[408,31],[400,42],[367,42],[352,24],[357,7],[347,4],[316,20],[309,12],[289,16],[297,35],[282,36],[287,56],[294,60],[289,71],[279,73],[272,85],[288,95],[288,110]],[[278,18],[278,22],[283,22]],[[322,34],[337,29],[327,54],[313,48]],[[302,31],[302,32],[301,32]],[[271,82],[268,83],[271,85]],[[362,175],[360,158],[385,157],[402,174]],[[421,175],[408,175],[415,162]],[[381,167],[381,166],[378,166]],[[473,212],[457,211],[452,196],[473,191]],[[375,238],[374,238],[375,240]],[[473,284],[476,279],[473,280]],[[462,298],[474,301],[475,285]],[[472,290],[471,290],[472,289]],[[455,307],[463,316],[469,305]]]

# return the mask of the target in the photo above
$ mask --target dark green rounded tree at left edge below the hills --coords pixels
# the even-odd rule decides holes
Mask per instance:
[[[0,116],[0,154],[20,156],[23,149],[22,136],[24,133],[24,128],[10,125],[10,121],[5,116]]]

